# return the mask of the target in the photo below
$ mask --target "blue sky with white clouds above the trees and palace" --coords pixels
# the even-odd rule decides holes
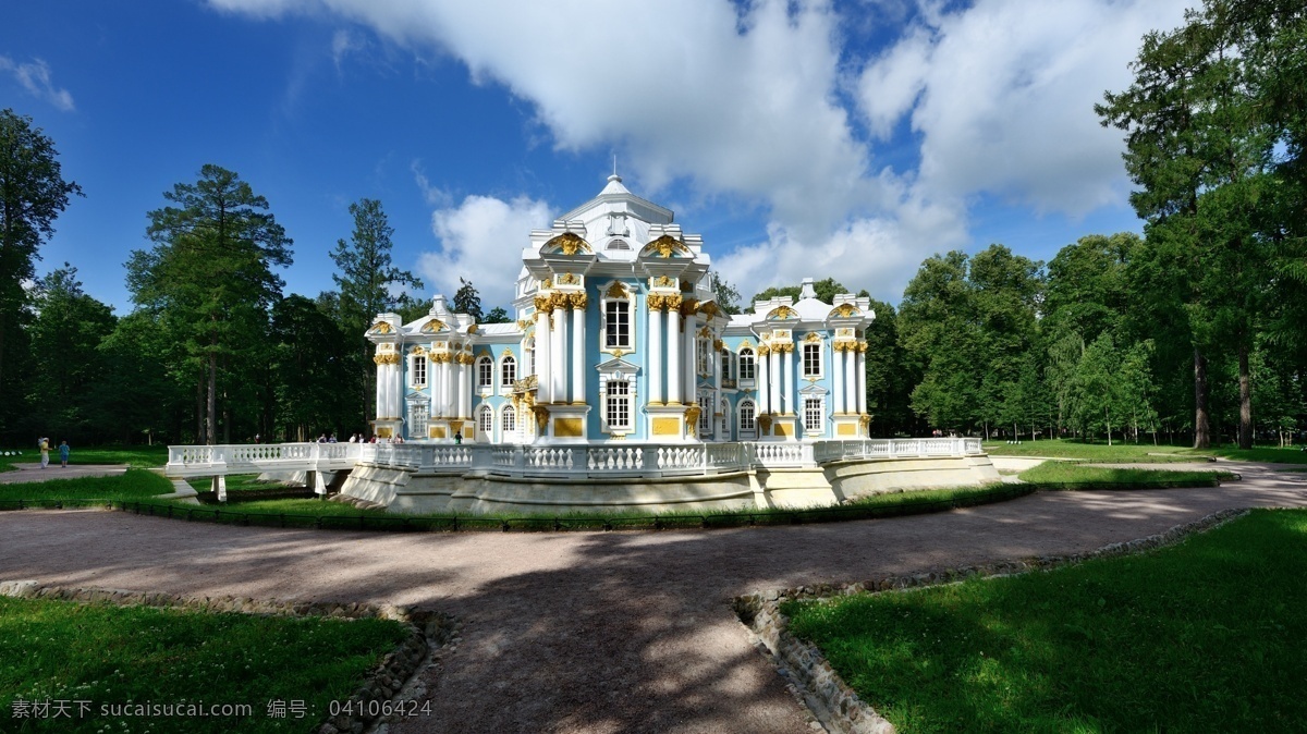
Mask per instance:
[[[118,313],[205,163],[267,197],[288,293],[335,287],[366,197],[420,295],[465,278],[489,310],[614,157],[745,298],[810,276],[897,304],[935,253],[1140,231],[1093,106],[1193,1],[7,0],[0,108],[85,192],[38,273]]]

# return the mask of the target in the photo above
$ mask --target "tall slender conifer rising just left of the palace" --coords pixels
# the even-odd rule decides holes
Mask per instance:
[[[366,422],[375,391],[376,374],[370,359],[370,342],[365,336],[378,313],[392,311],[400,302],[395,286],[421,289],[422,281],[391,263],[391,235],[395,230],[386,218],[382,202],[361,199],[349,205],[354,232],[349,242],[337,240],[331,259],[337,273],[332,279],[339,289],[341,328],[354,341],[354,370],[361,374],[358,422]],[[406,295],[406,294],[401,294]]]

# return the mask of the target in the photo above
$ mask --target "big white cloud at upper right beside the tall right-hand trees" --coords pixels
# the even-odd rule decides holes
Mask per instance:
[[[1183,21],[1192,0],[978,0],[923,21],[863,71],[876,133],[911,115],[918,185],[992,193],[1082,215],[1120,202],[1121,135],[1093,112],[1124,89],[1141,37]]]

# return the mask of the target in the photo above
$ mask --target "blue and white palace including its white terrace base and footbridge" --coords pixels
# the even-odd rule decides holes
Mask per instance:
[[[379,313],[379,443],[170,447],[167,474],[306,471],[395,512],[740,509],[997,482],[979,439],[867,435],[868,299],[728,315],[672,212],[613,175],[531,232],[511,324]],[[401,440],[403,439],[403,440]]]

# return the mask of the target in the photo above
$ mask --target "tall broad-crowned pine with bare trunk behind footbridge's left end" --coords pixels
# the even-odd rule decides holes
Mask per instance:
[[[199,367],[201,443],[216,443],[220,374],[263,343],[268,311],[281,295],[273,266],[290,265],[290,238],[268,213],[268,200],[220,166],[205,165],[193,184],[176,184],[175,204],[149,213],[152,251],[128,261],[132,299],[167,323],[192,367]],[[240,380],[223,380],[223,388]],[[223,405],[226,407],[226,405]],[[230,440],[230,421],[223,422]]]

